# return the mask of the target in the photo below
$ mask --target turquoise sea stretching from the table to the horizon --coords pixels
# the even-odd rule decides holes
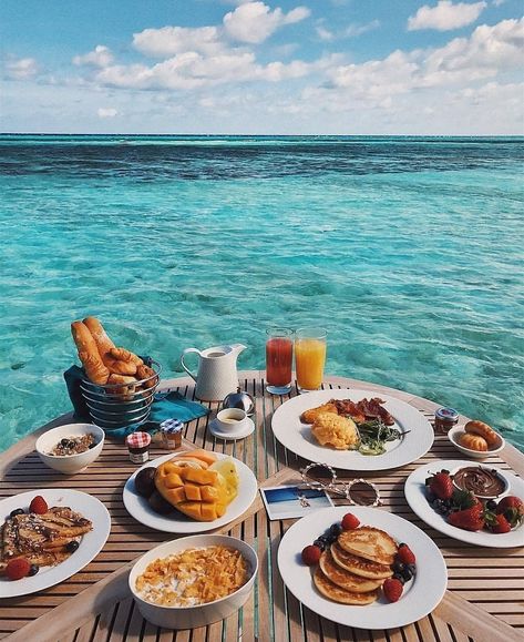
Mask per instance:
[[[331,374],[524,449],[524,139],[0,136],[0,448],[70,409],[70,323],[189,346],[328,328]]]

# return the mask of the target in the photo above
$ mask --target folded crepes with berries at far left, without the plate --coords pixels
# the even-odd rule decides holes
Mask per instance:
[[[69,507],[48,507],[37,496],[29,510],[11,511],[1,529],[0,573],[10,580],[35,575],[40,567],[66,560],[80,547],[92,522]]]

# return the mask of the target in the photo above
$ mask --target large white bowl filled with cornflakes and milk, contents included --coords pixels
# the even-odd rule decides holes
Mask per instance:
[[[257,554],[246,542],[202,534],[148,551],[129,581],[145,620],[165,629],[195,629],[235,613],[249,598],[257,571]]]

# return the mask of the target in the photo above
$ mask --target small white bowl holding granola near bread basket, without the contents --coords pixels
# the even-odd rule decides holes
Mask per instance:
[[[52,449],[65,437],[94,435],[96,446],[79,455],[54,456]],[[94,424],[66,424],[52,428],[37,439],[35,449],[40,459],[53,470],[64,475],[74,475],[86,468],[99,457],[104,446],[105,432]]]

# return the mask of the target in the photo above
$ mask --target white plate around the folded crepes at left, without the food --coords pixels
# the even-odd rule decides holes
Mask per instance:
[[[63,580],[78,573],[99,554],[110,534],[111,518],[105,506],[95,497],[80,492],[80,490],[39,488],[29,492],[21,492],[0,501],[1,519],[9,517],[9,513],[17,508],[23,508],[27,511],[31,500],[37,495],[41,495],[50,508],[53,506],[68,506],[75,512],[80,512],[93,522],[93,530],[82,536],[78,550],[55,567],[41,567],[40,571],[32,578],[23,578],[17,581],[8,580],[6,575],[1,575],[0,598],[27,595],[63,582]]]

